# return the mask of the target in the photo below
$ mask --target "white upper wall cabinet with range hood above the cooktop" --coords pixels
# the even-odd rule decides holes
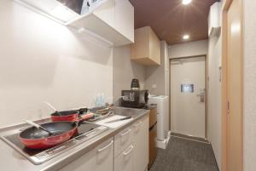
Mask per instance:
[[[93,32],[113,46],[134,43],[129,0],[19,0],[81,33]]]

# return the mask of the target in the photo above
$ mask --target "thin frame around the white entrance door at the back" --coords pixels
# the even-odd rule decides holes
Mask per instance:
[[[206,98],[205,98],[205,113],[206,113],[206,118],[205,118],[205,139],[208,139],[208,57],[207,54],[199,54],[199,55],[193,55],[193,56],[183,56],[183,57],[177,57],[177,58],[170,58],[169,59],[169,128],[171,130],[171,119],[172,119],[172,113],[171,113],[171,62],[172,60],[179,60],[179,59],[189,59],[189,58],[198,58],[198,57],[205,57],[206,59],[206,76],[205,76],[205,81],[206,81]],[[172,130],[171,130],[172,131]]]

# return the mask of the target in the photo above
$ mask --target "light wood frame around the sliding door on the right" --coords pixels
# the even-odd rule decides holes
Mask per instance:
[[[227,148],[227,126],[228,126],[228,10],[230,9],[230,5],[233,2],[233,0],[224,0],[223,6],[222,6],[222,84],[221,84],[221,90],[222,90],[222,97],[221,97],[221,105],[222,105],[222,128],[221,128],[221,134],[222,134],[222,140],[221,140],[221,170],[222,171],[228,171],[227,170],[227,162],[228,162],[228,148]],[[243,33],[243,0],[241,0],[241,33]],[[243,34],[241,34],[241,61],[243,58]],[[241,129],[243,128],[243,63],[241,62],[241,79],[239,82],[241,83]],[[243,151],[243,130],[241,130],[241,151]],[[242,155],[242,152],[241,152]],[[243,170],[243,157],[241,156],[241,171]]]

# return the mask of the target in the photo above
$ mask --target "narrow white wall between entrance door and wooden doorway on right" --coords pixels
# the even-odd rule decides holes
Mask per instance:
[[[222,38],[209,38],[208,52],[208,139],[221,168],[221,82],[219,81],[219,60],[222,53]]]

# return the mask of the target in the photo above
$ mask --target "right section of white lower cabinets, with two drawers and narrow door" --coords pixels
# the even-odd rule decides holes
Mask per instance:
[[[146,116],[114,136],[114,153],[119,154],[114,158],[114,171],[147,170],[148,127],[149,120]],[[121,141],[122,139],[125,141]]]

